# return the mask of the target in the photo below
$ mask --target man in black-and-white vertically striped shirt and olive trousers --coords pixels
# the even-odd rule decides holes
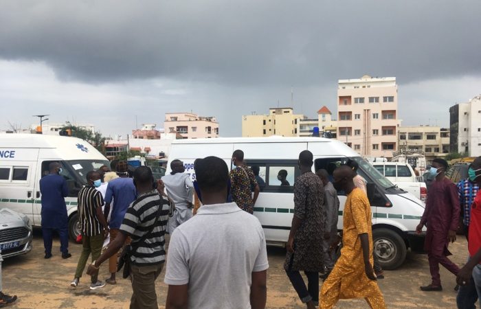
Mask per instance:
[[[104,199],[102,194],[96,190],[102,181],[100,173],[90,171],[87,173],[87,185],[78,192],[78,220],[82,230],[82,254],[78,259],[77,271],[70,286],[76,288],[85,264],[92,253],[92,260],[95,261],[100,256],[102,244],[104,244],[105,234],[109,232],[107,220],[102,212]],[[91,276],[91,290],[96,290],[105,286],[105,283],[98,281],[97,274]]]

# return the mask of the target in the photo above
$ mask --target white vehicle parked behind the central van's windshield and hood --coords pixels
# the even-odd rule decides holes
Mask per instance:
[[[410,163],[372,162],[371,164],[392,183],[410,192],[421,201],[426,201],[427,186],[422,181],[419,181],[422,177],[416,176]]]

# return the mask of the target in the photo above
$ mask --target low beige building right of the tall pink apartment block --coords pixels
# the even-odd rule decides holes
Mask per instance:
[[[449,153],[449,129],[439,126],[401,126],[399,130],[399,153],[418,152],[426,161]]]

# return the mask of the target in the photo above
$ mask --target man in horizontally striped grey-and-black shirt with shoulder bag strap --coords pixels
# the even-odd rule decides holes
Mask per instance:
[[[109,244],[100,258],[89,266],[87,273],[98,273],[100,264],[114,255],[122,247],[127,236],[130,236],[133,247],[131,254],[133,295],[130,308],[157,309],[155,279],[162,271],[166,260],[164,234],[170,204],[166,197],[160,197],[159,192],[153,190],[154,178],[150,168],[146,166],[137,168],[133,173],[133,181],[137,188],[137,199],[128,206],[117,238]],[[161,207],[159,218],[153,226],[159,207]],[[139,243],[150,230],[152,233],[148,238]]]

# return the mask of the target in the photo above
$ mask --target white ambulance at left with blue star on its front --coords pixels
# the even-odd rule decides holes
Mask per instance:
[[[87,141],[76,137],[38,134],[0,134],[0,208],[8,207],[41,226],[40,179],[49,173],[49,163],[62,165],[67,181],[65,198],[69,216],[69,236],[80,233],[77,214],[78,192],[87,183],[85,176],[109,160]]]

